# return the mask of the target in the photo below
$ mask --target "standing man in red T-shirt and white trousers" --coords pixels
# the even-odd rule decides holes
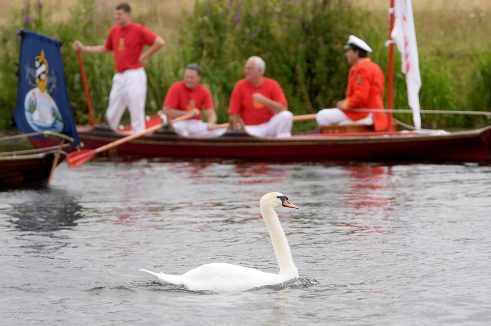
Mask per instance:
[[[109,30],[105,45],[84,46],[82,42],[75,41],[73,47],[91,54],[114,52],[116,74],[112,78],[106,120],[109,127],[117,130],[119,121],[128,108],[131,115],[131,129],[137,133],[145,130],[147,95],[147,75],[143,69],[145,59],[162,48],[165,42],[162,37],[147,27],[131,21],[131,8],[128,3],[120,3],[116,6],[114,19],[117,24]],[[141,53],[144,45],[150,47]]]

